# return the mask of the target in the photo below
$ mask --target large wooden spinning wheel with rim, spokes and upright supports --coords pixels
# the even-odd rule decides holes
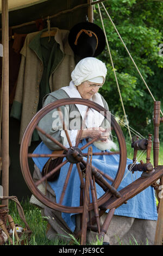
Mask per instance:
[[[21,143],[21,150],[20,150],[20,163],[21,163],[21,169],[22,169],[22,174],[24,176],[24,179],[30,189],[30,191],[34,194],[34,196],[43,204],[48,206],[51,209],[55,209],[60,212],[66,212],[66,213],[74,213],[74,214],[84,214],[85,215],[85,210],[87,209],[86,212],[94,210],[97,215],[97,226],[98,226],[98,231],[100,231],[99,228],[99,215],[98,215],[98,208],[99,206],[103,205],[109,198],[114,195],[115,197],[119,198],[120,193],[117,191],[118,186],[121,183],[121,180],[123,178],[124,171],[126,169],[126,160],[127,160],[127,150],[126,150],[126,142],[123,137],[123,133],[121,131],[120,126],[117,124],[116,120],[111,116],[111,130],[112,132],[115,132],[115,135],[117,137],[117,142],[119,145],[119,151],[101,151],[99,153],[94,153],[92,151],[91,144],[95,141],[97,141],[98,138],[92,139],[90,142],[87,142],[83,147],[79,148],[79,137],[82,133],[82,130],[79,132],[79,137],[77,138],[76,142],[76,147],[72,146],[70,136],[68,135],[68,132],[66,130],[64,121],[63,121],[63,129],[65,130],[65,134],[67,137],[67,141],[70,145],[69,148],[65,147],[62,145],[59,141],[54,139],[53,137],[47,135],[45,131],[41,130],[37,124],[39,121],[44,117],[47,113],[50,111],[57,109],[60,111],[60,108],[62,106],[67,106],[67,105],[84,105],[87,106],[87,109],[95,109],[95,111],[100,112],[103,117],[108,120],[108,115],[106,109],[104,109],[102,106],[98,105],[95,102],[89,101],[89,100],[84,100],[84,99],[76,99],[76,98],[71,98],[71,99],[61,99],[57,100],[55,102],[49,103],[47,106],[43,107],[37,114],[34,116],[32,121],[30,121],[23,139]],[[62,118],[62,117],[60,117]],[[45,136],[48,137],[53,143],[57,144],[61,149],[65,150],[64,154],[44,154],[44,155],[34,155],[34,154],[29,154],[28,153],[28,145],[30,142],[30,139],[32,138],[32,134],[34,129],[37,129],[39,132],[44,134]],[[90,147],[89,147],[90,146]],[[83,150],[85,148],[88,148],[87,153],[83,153]],[[110,177],[109,175],[105,174],[102,170],[97,169],[93,164],[91,163],[91,159],[93,159],[93,156],[96,155],[112,155],[112,154],[120,154],[120,162],[119,166],[117,169],[117,173],[115,175],[115,178]],[[64,161],[59,164],[57,167],[55,167],[51,172],[43,176],[39,181],[34,182],[32,175],[29,170],[29,165],[28,165],[28,159],[30,157],[66,157]],[[87,161],[84,160],[84,157],[87,157]],[[40,192],[40,190],[37,188],[39,184],[41,184],[43,181],[45,181],[49,176],[51,176],[53,173],[57,172],[59,168],[64,166],[67,162],[70,162],[70,166],[67,172],[66,176],[66,181],[63,187],[63,190],[61,192],[61,197],[59,203],[52,202],[49,200],[43,193]],[[81,183],[81,200],[80,200],[80,205],[79,206],[66,206],[62,204],[62,200],[65,196],[66,192],[66,187],[68,184],[68,181],[70,179],[70,174],[71,170],[73,167],[73,164],[76,164],[76,171],[78,172],[79,178],[80,178],[80,183]],[[84,181],[83,179],[83,173],[81,169],[81,164],[85,167],[85,173],[86,173],[86,179]],[[104,194],[100,197],[97,198],[96,194],[96,183],[101,186],[104,190]],[[85,184],[85,185],[84,185]],[[79,184],[80,186],[80,184]],[[89,202],[89,188],[91,188],[92,192],[92,203]],[[83,196],[84,194],[84,196]],[[84,200],[84,198],[87,197],[87,202]],[[86,213],[87,215],[87,213]],[[84,243],[84,242],[83,242]]]

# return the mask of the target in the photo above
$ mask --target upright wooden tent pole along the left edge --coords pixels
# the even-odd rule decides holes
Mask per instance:
[[[9,27],[8,0],[2,0],[2,187],[9,196]],[[8,207],[8,200],[3,203]]]

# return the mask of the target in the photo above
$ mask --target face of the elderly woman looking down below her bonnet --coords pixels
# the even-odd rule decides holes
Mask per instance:
[[[83,99],[90,100],[91,97],[98,92],[99,88],[101,88],[102,85],[102,83],[84,81],[79,86],[77,86],[77,90]]]

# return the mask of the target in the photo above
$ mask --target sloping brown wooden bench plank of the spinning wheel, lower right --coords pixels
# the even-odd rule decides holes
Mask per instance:
[[[130,198],[136,196],[141,191],[145,190],[145,188],[151,186],[156,180],[158,180],[163,175],[163,166],[158,166],[155,168],[155,172],[153,175],[148,178],[139,178],[129,184],[127,187],[124,187],[120,192],[120,198],[111,197],[105,204],[99,206],[101,210],[103,209],[112,209],[118,208],[122,204],[124,204]]]

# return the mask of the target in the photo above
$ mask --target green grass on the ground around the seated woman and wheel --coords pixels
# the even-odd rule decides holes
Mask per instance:
[[[127,142],[127,157],[133,159],[133,149],[131,149],[130,142]],[[163,154],[163,144],[160,144],[160,156]],[[140,160],[146,162],[146,154],[142,156]],[[139,161],[140,161],[139,160]],[[153,163],[153,151],[151,153],[151,162]],[[163,165],[163,159],[159,158],[159,165]],[[64,240],[56,239],[55,241],[48,240],[46,237],[46,229],[47,229],[47,220],[41,216],[41,211],[39,208],[29,204],[29,198],[23,199],[21,202],[22,208],[24,210],[24,215],[26,216],[26,221],[29,224],[30,229],[32,230],[32,235],[30,237],[30,241],[26,241],[26,245],[68,245],[68,242],[64,242]],[[16,203],[9,200],[9,214],[14,220],[15,224],[19,224],[22,227],[25,227],[22,222],[20,216],[18,215]],[[67,234],[67,236],[71,236]],[[79,245],[79,242],[71,236],[73,243],[72,245]],[[12,237],[14,240],[14,237]],[[123,241],[118,239],[117,241],[119,245],[123,245]],[[14,245],[18,245],[18,243],[14,240]],[[97,239],[91,243],[91,245],[102,245],[102,242]],[[128,242],[128,245],[139,245],[134,237]],[[146,245],[148,245],[148,240]]]

